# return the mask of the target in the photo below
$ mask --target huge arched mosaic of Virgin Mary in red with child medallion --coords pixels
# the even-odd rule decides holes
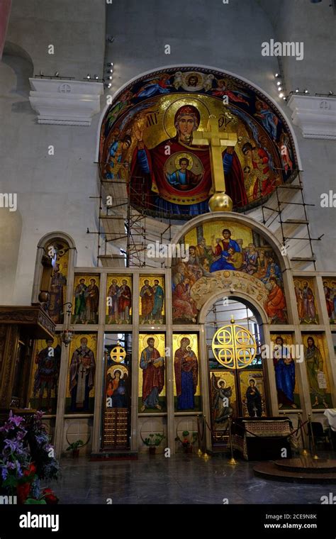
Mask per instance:
[[[235,211],[262,204],[295,177],[291,135],[274,105],[235,77],[189,68],[147,76],[118,96],[101,126],[101,177],[125,180],[131,204],[149,215],[207,213],[211,150],[194,145],[193,135],[211,115],[237,138],[222,154]]]

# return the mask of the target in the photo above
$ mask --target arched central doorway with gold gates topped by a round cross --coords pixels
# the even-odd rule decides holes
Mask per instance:
[[[262,317],[242,298],[217,299],[205,321],[211,443],[228,442],[228,418],[269,413]]]

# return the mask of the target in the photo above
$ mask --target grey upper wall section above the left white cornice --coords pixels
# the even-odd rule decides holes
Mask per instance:
[[[101,77],[105,39],[101,0],[13,0],[6,40],[26,50],[34,74]],[[53,55],[48,45],[54,45]]]

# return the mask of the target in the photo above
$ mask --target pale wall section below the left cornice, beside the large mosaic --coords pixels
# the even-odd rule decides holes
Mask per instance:
[[[0,261],[7,262],[6,274],[1,275],[0,304],[30,304],[36,247],[46,233],[69,233],[77,246],[77,263],[94,265],[96,235],[86,234],[86,228],[96,230],[97,200],[89,196],[97,195],[94,160],[99,117],[91,127],[38,125],[28,87],[23,90],[13,62],[13,57],[4,55],[0,64],[0,192],[17,193],[23,226],[21,240],[6,232],[6,242],[19,241],[20,249],[17,267],[1,250]],[[55,155],[48,155],[49,145],[54,145]],[[0,208],[0,218],[5,213],[8,218],[9,210]]]

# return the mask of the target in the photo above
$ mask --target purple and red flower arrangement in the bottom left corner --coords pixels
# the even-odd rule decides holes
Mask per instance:
[[[57,479],[59,470],[42,416],[43,412],[36,413],[27,424],[10,411],[0,427],[1,489],[16,495],[18,504],[58,501],[50,489],[40,490],[40,479]]]

